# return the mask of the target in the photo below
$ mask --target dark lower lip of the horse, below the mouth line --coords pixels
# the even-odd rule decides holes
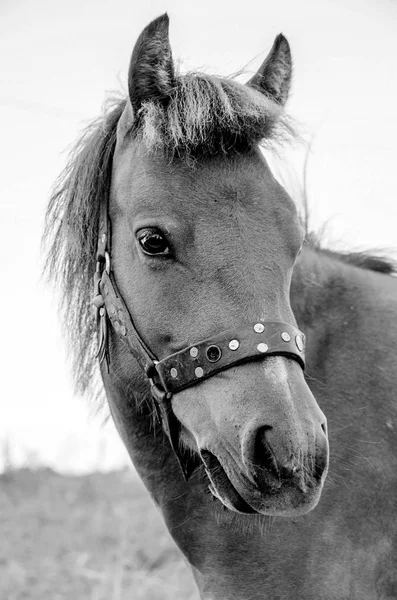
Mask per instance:
[[[200,451],[200,456],[211,482],[209,489],[213,496],[222,502],[226,508],[234,512],[242,514],[257,513],[236,490],[216,456],[208,450]]]

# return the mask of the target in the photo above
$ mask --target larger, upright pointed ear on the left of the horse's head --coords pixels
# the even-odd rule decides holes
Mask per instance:
[[[174,63],[168,36],[167,13],[158,17],[139,36],[128,70],[128,93],[138,111],[146,101],[166,105],[174,87]]]

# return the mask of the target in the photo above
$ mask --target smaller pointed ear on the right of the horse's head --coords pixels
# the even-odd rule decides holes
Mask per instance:
[[[287,39],[279,33],[258,72],[247,82],[247,85],[284,106],[291,86],[291,76],[291,50]]]

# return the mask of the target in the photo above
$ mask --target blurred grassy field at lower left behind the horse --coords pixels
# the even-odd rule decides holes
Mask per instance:
[[[0,476],[1,600],[197,600],[190,570],[130,471]]]

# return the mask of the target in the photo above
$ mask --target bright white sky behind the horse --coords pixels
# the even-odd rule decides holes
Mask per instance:
[[[125,90],[133,44],[165,10],[185,70],[252,72],[277,33],[288,37],[288,108],[313,140],[313,225],[334,216],[329,237],[339,247],[397,247],[394,0],[3,0],[0,461],[5,440],[14,460],[63,470],[126,461],[113,428],[103,430],[73,396],[53,294],[40,282],[39,243],[64,150],[109,92]],[[303,150],[287,154],[300,171]]]

